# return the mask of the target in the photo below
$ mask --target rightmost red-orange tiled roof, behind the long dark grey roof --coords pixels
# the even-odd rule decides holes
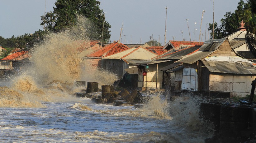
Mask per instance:
[[[170,50],[170,49],[184,49],[190,47],[192,45],[202,45],[202,42],[190,42],[190,41],[169,41],[163,49]]]

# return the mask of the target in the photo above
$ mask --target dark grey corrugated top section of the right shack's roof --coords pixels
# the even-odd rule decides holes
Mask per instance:
[[[226,38],[215,39],[215,40],[207,40],[207,41],[205,41],[204,44],[201,46],[200,51],[214,51],[214,50],[216,50],[225,40],[226,40]]]

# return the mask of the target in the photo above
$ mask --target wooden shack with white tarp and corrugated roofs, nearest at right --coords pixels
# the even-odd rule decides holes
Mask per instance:
[[[175,63],[183,63],[175,71],[175,91],[200,91],[210,97],[245,96],[256,75],[252,62],[238,57],[228,38],[205,41]]]

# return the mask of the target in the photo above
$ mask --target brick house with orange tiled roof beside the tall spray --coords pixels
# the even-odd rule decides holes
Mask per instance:
[[[89,67],[89,73],[93,73],[96,71],[97,68],[103,67],[104,64],[102,63],[102,58],[119,53],[124,50],[128,50],[129,48],[125,45],[123,45],[120,42],[114,41],[111,44],[108,44],[107,46],[103,47],[102,49],[99,49],[95,52],[92,52],[91,54],[88,54],[85,56],[86,58],[86,66]]]

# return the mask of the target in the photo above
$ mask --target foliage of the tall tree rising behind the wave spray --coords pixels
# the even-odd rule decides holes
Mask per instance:
[[[110,39],[111,25],[105,20],[103,10],[97,0],[57,0],[53,12],[41,16],[41,25],[47,31],[61,32],[77,24],[78,15],[88,18],[93,27],[97,29],[97,36],[89,37],[90,40],[100,40],[103,29],[103,40]]]

